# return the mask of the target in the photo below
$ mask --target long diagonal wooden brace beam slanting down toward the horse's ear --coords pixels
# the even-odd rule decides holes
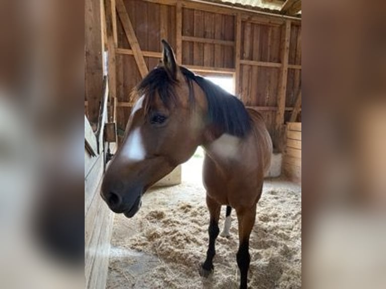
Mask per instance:
[[[148,67],[146,66],[144,56],[141,52],[140,44],[138,43],[138,39],[134,31],[132,22],[128,17],[123,0],[115,0],[115,1],[116,1],[116,10],[118,12],[120,21],[122,22],[124,32],[126,33],[127,41],[130,44],[131,48],[133,49],[134,58],[136,59],[138,69],[140,71],[141,76],[144,78],[149,73],[149,70],[148,70]]]

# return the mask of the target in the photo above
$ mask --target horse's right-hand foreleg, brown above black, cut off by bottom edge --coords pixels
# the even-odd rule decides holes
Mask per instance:
[[[240,269],[240,289],[246,289],[249,269],[249,236],[256,217],[256,205],[249,209],[237,211],[239,247],[237,251],[237,265]]]

